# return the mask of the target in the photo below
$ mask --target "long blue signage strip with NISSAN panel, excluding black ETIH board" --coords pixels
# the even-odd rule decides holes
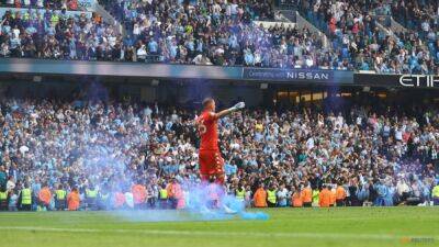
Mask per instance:
[[[0,74],[354,85],[353,71],[0,58]]]

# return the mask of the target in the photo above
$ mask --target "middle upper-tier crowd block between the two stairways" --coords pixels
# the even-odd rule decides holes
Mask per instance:
[[[288,23],[270,29],[252,21],[273,20],[269,1],[114,1],[106,3],[125,24],[127,47],[137,60],[176,64],[317,67],[330,56],[307,30]]]

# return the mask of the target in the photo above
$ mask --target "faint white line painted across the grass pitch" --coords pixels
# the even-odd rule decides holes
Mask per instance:
[[[159,231],[159,229],[97,229],[97,228],[55,228],[37,226],[0,226],[0,231],[23,232],[55,232],[55,233],[119,233],[119,234],[145,234],[145,235],[188,235],[188,236],[212,236],[212,237],[281,237],[281,238],[334,238],[334,239],[374,239],[374,240],[399,240],[403,237],[431,238],[432,236],[397,236],[389,234],[338,234],[338,233],[255,233],[255,232],[201,232],[201,231]],[[438,237],[435,236],[434,239]]]

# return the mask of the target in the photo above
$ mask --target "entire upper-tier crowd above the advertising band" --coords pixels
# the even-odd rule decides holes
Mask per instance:
[[[420,26],[425,32],[414,30],[393,35],[380,29],[374,18],[375,12],[380,12],[380,2],[294,1],[301,13],[326,33],[331,41],[328,46],[307,29],[297,30],[289,23],[270,26],[255,23],[274,21],[279,14],[271,2],[260,0],[101,1],[125,26],[123,36],[115,32],[116,26],[105,24],[95,13],[92,18],[75,12],[67,15],[66,8],[47,8],[44,14],[38,10],[21,14],[7,12],[2,18],[0,54],[53,59],[438,74],[438,19],[425,19],[423,14]],[[418,1],[399,5],[410,9],[414,2]],[[427,10],[435,10],[435,1],[425,2],[430,3]],[[406,19],[416,22],[416,16],[407,14]],[[424,42],[425,37],[428,42]]]

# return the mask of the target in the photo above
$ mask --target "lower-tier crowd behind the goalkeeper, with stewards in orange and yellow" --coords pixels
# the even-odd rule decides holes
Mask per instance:
[[[222,119],[226,193],[256,207],[439,205],[438,108],[360,102]],[[184,209],[200,182],[196,111],[14,99],[0,108],[2,210]]]

